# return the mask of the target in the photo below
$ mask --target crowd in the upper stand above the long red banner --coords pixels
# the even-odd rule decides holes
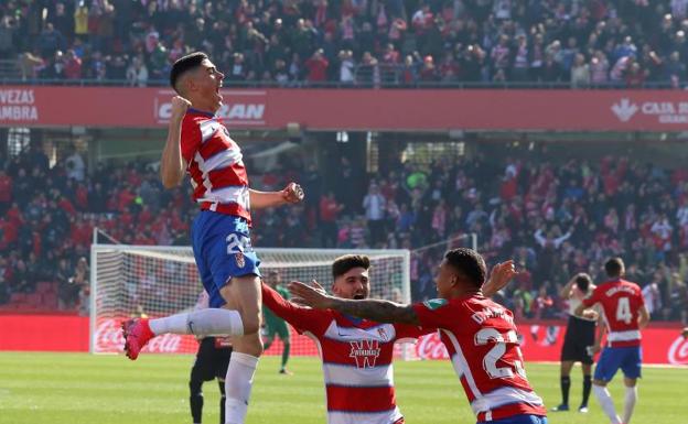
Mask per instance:
[[[8,0],[25,79],[165,80],[208,52],[228,81],[682,87],[688,0]]]

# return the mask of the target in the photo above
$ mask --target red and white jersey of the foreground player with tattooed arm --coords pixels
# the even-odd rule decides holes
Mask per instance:
[[[518,347],[514,315],[479,295],[436,298],[413,305],[423,327],[436,327],[477,421],[545,416]]]

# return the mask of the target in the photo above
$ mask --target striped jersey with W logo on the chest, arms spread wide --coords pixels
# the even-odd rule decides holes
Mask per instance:
[[[262,302],[318,345],[329,424],[393,424],[404,418],[395,398],[394,344],[430,330],[298,306],[265,284]]]

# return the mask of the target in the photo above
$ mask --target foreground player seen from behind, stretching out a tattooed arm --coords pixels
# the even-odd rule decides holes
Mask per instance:
[[[509,273],[510,279],[515,271],[513,262],[507,264],[502,271]],[[485,273],[483,258],[474,250],[461,248],[448,251],[440,265],[436,281],[440,298],[423,303],[344,300],[298,282],[289,289],[319,309],[380,323],[439,328],[480,423],[547,423],[542,400],[526,379],[513,314],[481,291]]]

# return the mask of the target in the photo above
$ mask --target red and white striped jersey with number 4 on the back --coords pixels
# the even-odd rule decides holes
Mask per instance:
[[[612,280],[595,287],[583,301],[585,307],[602,305],[610,347],[641,346],[638,312],[645,306],[641,287],[625,280]]]

